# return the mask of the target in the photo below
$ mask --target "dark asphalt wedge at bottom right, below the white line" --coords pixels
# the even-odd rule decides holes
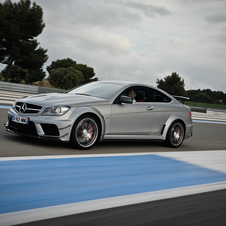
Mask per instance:
[[[225,226],[226,190],[23,224],[27,226]]]

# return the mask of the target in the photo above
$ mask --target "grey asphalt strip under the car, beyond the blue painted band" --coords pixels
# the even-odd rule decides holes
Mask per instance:
[[[3,125],[7,121],[7,111],[0,109],[0,157],[175,151],[162,143],[150,141],[104,141],[88,151],[76,150],[67,143],[31,139],[6,132]],[[226,150],[225,134],[225,124],[195,122],[193,137],[185,140],[176,150]]]

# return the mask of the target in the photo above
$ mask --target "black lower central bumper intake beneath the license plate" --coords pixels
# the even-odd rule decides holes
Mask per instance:
[[[38,136],[34,122],[29,121],[28,124],[21,124],[9,120],[9,129],[24,135]]]

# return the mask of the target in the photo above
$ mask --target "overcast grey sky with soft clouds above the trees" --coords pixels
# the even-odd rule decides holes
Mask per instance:
[[[99,80],[157,86],[176,72],[186,90],[226,93],[226,0],[35,2],[44,13],[44,70],[71,58],[94,68]]]

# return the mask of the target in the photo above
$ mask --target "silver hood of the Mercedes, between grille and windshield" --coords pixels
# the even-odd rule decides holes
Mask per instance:
[[[20,98],[17,101],[41,105],[44,107],[59,105],[69,105],[73,107],[81,105],[106,104],[108,100],[78,94],[46,93]]]

